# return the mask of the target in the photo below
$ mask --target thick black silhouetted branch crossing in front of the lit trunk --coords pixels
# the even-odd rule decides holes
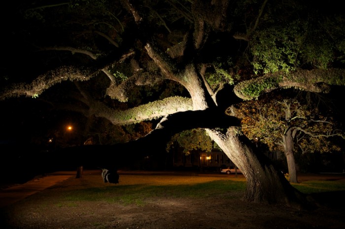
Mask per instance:
[[[46,160],[64,165],[92,165],[111,170],[126,166],[126,163],[133,163],[133,158],[143,158],[147,155],[145,149],[149,149],[150,154],[161,155],[171,137],[183,130],[227,128],[238,125],[240,125],[239,119],[216,109],[177,112],[164,117],[154,130],[138,140],[113,145],[70,147],[61,150],[58,154],[49,155],[54,158]],[[66,157],[69,158],[68,161]]]

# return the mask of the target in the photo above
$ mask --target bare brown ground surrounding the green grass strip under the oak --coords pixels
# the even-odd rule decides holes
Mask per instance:
[[[120,175],[117,185],[182,184],[233,178],[227,175]],[[304,180],[310,178],[304,178]],[[323,179],[337,179],[327,178]],[[344,180],[344,176],[339,179]],[[67,201],[73,189],[111,186],[100,174],[84,172],[82,179],[69,178],[51,188],[1,209],[0,228],[23,229],[344,229],[344,192],[315,196],[324,203],[317,209],[298,210],[281,205],[242,201],[242,192],[221,198],[150,197],[142,204],[109,203],[104,200]],[[116,194],[114,194],[116,195]]]

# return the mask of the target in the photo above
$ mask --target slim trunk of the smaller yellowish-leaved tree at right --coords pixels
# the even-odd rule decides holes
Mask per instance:
[[[290,182],[297,183],[296,162],[293,154],[293,137],[292,129],[286,131],[283,136],[284,154],[286,156],[287,168],[289,171]]]

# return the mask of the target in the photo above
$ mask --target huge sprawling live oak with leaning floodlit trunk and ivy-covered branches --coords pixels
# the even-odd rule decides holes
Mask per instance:
[[[329,85],[344,85],[343,15],[320,11],[314,2],[302,3],[24,1],[15,14],[22,19],[6,34],[14,36],[8,42],[18,44],[8,52],[21,55],[9,55],[2,75],[2,82],[17,83],[8,84],[1,99],[37,98],[71,81],[78,91],[73,109],[82,114],[104,117],[114,125],[161,118],[144,138],[87,147],[102,154],[84,154],[79,160],[86,157],[110,167],[139,156],[138,149],[165,148],[175,133],[204,128],[246,177],[244,200],[301,204],[304,195],[243,135],[231,107],[278,87],[322,92]],[[18,63],[22,67],[14,72]],[[13,78],[18,74],[25,77]],[[126,110],[109,102],[126,102],[134,87],[165,81],[183,86],[189,97],[165,97]]]

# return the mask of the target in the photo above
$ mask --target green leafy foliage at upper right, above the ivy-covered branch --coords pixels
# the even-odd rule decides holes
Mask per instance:
[[[291,10],[278,2],[271,4],[267,5],[260,26],[250,31],[249,50],[255,74],[289,72],[301,67],[327,69],[334,62],[344,63],[343,15],[324,15],[296,2],[289,6]]]

